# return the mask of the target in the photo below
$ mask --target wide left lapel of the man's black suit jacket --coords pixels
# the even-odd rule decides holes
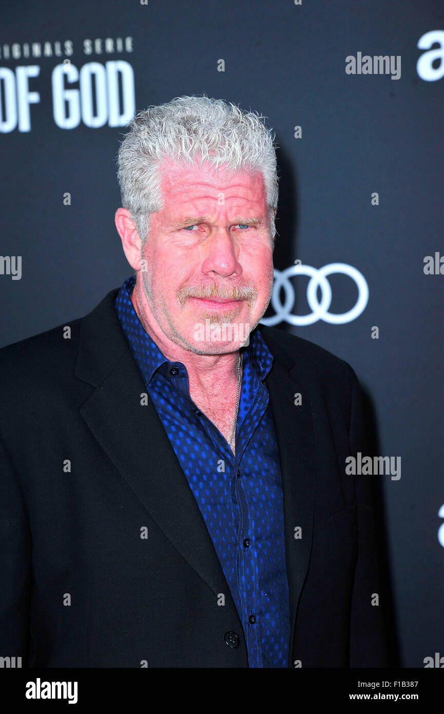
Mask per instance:
[[[174,548],[238,616],[201,511],[113,306],[111,291],[81,324],[76,376],[96,387],[80,413],[94,437]],[[239,628],[241,621],[239,620]]]

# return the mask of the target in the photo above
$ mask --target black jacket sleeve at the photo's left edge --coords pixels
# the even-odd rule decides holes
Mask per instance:
[[[31,552],[29,518],[0,438],[0,656],[21,657],[23,667],[29,648]]]

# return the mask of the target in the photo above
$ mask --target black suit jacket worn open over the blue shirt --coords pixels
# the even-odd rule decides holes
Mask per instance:
[[[0,351],[0,655],[29,667],[248,667],[201,512],[156,408],[141,405],[117,292],[68,323],[70,338],[59,326]],[[375,477],[345,475],[345,458],[365,453],[355,373],[313,343],[258,329],[274,356],[265,383],[283,480],[288,666],[385,666],[371,604],[373,593],[383,604]]]

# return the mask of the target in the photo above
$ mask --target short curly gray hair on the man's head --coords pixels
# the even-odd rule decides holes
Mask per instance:
[[[271,238],[276,233],[278,206],[275,134],[265,117],[243,111],[222,99],[179,96],[139,111],[128,124],[118,150],[121,203],[131,213],[142,243],[150,228],[151,213],[163,207],[161,165],[168,159],[193,164],[203,161],[229,171],[261,171],[270,212]]]

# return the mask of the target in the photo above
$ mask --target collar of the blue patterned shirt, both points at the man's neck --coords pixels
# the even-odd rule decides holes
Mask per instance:
[[[123,333],[128,340],[134,358],[141,371],[146,386],[151,382],[154,373],[168,358],[161,352],[153,339],[144,330],[131,301],[131,293],[136,283],[135,276],[127,278],[116,297],[115,307]],[[245,358],[251,358],[258,378],[263,380],[268,375],[273,364],[273,355],[266,346],[261,332],[256,327],[250,334],[250,341],[245,348]]]

